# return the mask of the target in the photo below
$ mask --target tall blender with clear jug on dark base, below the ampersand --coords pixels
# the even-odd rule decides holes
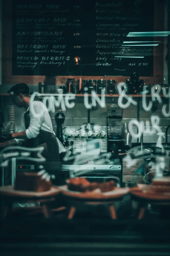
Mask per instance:
[[[122,127],[123,109],[113,104],[107,107],[107,140],[108,152],[124,152],[125,139]]]

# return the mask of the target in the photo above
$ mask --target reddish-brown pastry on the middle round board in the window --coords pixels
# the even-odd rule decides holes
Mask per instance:
[[[98,190],[98,192],[108,192],[116,187],[114,181],[97,183],[89,182],[83,177],[70,178],[67,180],[67,186],[69,190],[76,192],[88,192]]]

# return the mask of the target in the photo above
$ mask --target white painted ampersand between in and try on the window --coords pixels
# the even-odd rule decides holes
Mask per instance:
[[[135,106],[137,105],[137,102],[132,99],[132,96],[128,96],[127,94],[125,94],[126,90],[127,90],[127,86],[126,86],[125,83],[121,82],[121,83],[119,83],[117,85],[117,87],[118,87],[118,92],[120,94],[120,96],[118,98],[118,105],[119,105],[119,107],[127,108],[127,107],[130,106],[130,104],[133,104]],[[125,90],[125,92],[122,91],[122,88]],[[127,100],[127,103],[125,103],[125,104],[123,104],[123,99],[124,98]]]

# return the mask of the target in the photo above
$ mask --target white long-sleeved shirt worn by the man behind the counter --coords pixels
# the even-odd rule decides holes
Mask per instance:
[[[29,125],[28,129],[26,129],[25,120],[24,120],[25,112],[24,112],[22,115],[22,118],[21,118],[21,125],[17,131],[18,133],[26,130],[26,136],[28,137],[28,139],[37,137],[37,135],[39,134],[39,130],[54,133],[50,115],[48,113],[47,108],[45,107],[45,105],[42,102],[34,101],[29,106],[27,111],[28,110],[30,113],[30,125]],[[18,145],[21,145],[24,141],[24,139],[15,139],[15,140]],[[66,151],[64,146],[62,145],[62,143],[59,141],[58,138],[57,138],[57,141],[58,141],[58,145],[59,145],[59,152],[61,153],[61,152]]]

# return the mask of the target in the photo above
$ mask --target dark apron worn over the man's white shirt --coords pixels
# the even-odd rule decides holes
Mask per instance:
[[[30,125],[29,110],[25,112],[24,120],[25,120],[25,128],[28,129]],[[51,162],[52,161],[60,162],[59,146],[58,146],[57,138],[53,133],[39,130],[39,134],[37,137],[28,139],[24,142],[24,146],[29,148],[35,148],[42,144],[45,147],[45,150],[44,150],[45,155],[43,155],[43,152],[42,152],[42,155],[46,158],[46,160]]]

